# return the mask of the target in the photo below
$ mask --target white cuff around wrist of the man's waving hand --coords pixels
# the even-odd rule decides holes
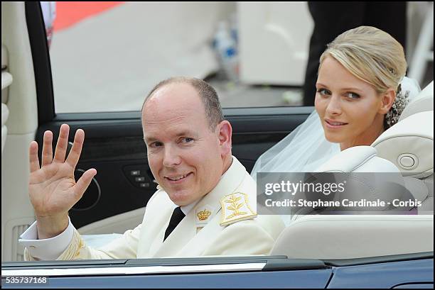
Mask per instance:
[[[68,227],[59,235],[38,240],[37,222],[34,222],[18,239],[18,242],[27,247],[29,254],[40,260],[56,260],[62,254],[71,240],[73,240],[74,225],[68,216]]]

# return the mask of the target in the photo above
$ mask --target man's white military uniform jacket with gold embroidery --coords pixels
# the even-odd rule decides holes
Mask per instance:
[[[279,216],[257,216],[256,184],[232,158],[215,189],[196,203],[164,242],[175,205],[158,186],[144,220],[134,230],[98,249],[88,247],[74,230],[58,260],[269,255],[284,223]],[[35,260],[27,249],[25,259]]]

